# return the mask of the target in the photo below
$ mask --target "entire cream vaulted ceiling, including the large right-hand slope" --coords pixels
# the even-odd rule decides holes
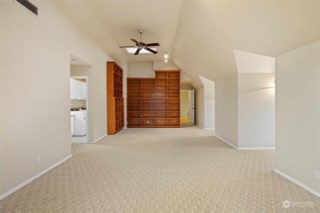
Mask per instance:
[[[236,73],[234,49],[276,57],[320,39],[319,1],[58,0],[114,60],[169,60],[201,85]],[[158,54],[128,54],[129,38],[158,42]]]

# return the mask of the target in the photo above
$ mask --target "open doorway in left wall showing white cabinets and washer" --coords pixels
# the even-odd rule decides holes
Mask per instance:
[[[91,66],[70,55],[70,125],[71,142],[89,142],[89,76],[81,75]],[[85,74],[85,73],[83,73]]]

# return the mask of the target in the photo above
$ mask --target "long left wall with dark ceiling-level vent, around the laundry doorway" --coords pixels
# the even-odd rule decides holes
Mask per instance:
[[[3,194],[71,154],[70,54],[92,65],[93,91],[101,90],[94,94],[100,116],[94,139],[106,133],[105,71],[112,59],[50,1],[35,1],[39,19],[13,1],[0,4]]]

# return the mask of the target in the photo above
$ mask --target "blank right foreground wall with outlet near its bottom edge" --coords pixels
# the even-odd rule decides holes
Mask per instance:
[[[275,169],[320,192],[320,41],[275,59]],[[318,194],[319,195],[319,194]]]

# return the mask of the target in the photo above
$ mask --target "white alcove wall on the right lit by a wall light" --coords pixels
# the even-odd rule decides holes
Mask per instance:
[[[238,73],[238,147],[274,147],[274,73]]]

